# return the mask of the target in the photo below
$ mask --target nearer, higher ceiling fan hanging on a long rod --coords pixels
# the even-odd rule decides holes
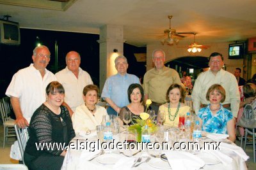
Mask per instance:
[[[173,43],[175,43],[177,45],[177,43],[179,42],[179,38],[185,37],[185,36],[182,36],[181,34],[193,34],[193,32],[176,32],[175,29],[172,29],[172,27],[171,27],[172,17],[173,17],[172,15],[168,15],[169,29],[164,30],[164,34],[167,34],[167,38],[164,38],[161,40],[162,45],[164,45],[165,43],[167,45],[173,45]]]

